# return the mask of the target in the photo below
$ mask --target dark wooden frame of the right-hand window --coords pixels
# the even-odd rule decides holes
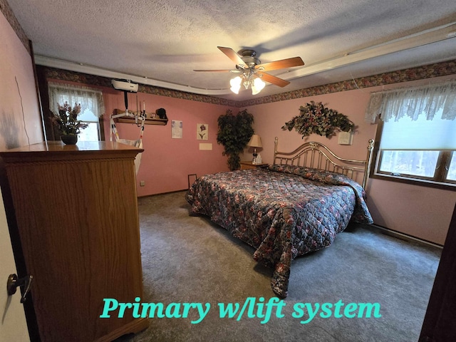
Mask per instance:
[[[418,185],[424,187],[433,187],[437,189],[444,190],[456,190],[456,181],[445,180],[447,176],[446,166],[449,166],[449,163],[452,158],[451,150],[440,150],[440,154],[437,160],[437,167],[434,177],[420,177],[413,175],[401,175],[401,174],[391,174],[387,172],[381,172],[378,170],[380,167],[381,161],[381,150],[380,150],[380,140],[383,133],[383,120],[378,120],[377,130],[375,133],[375,142],[373,148],[372,156],[372,165],[371,172],[369,177],[378,180],[387,180],[390,182],[400,182],[411,185]],[[442,167],[443,165],[443,167]]]

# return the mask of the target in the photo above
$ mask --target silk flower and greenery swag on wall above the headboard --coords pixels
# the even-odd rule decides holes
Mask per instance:
[[[299,111],[301,114],[285,123],[282,130],[294,129],[303,139],[313,133],[331,138],[338,131],[350,132],[355,128],[355,124],[346,115],[325,107],[321,102],[311,101],[305,106],[301,105]]]

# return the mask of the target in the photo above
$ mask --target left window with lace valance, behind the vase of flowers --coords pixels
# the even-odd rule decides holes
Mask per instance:
[[[68,102],[72,107],[81,103],[78,120],[88,123],[88,128],[81,130],[79,141],[104,140],[103,120],[105,113],[103,93],[88,87],[73,86],[63,83],[48,83],[49,106],[53,113],[58,113],[58,104]]]

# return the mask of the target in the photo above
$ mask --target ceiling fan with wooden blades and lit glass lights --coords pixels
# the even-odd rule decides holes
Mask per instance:
[[[217,46],[222,53],[224,53],[229,59],[236,63],[236,69],[234,70],[194,70],[212,73],[242,73],[241,76],[237,76],[230,81],[231,90],[233,93],[239,93],[241,83],[244,88],[252,88],[252,94],[255,95],[264,88],[265,83],[269,82],[279,87],[284,87],[290,82],[276,76],[272,76],[265,71],[277,70],[282,68],[291,68],[294,66],[304,66],[304,62],[301,57],[292,57],[282,59],[280,61],[274,61],[269,63],[261,63],[257,58],[257,52],[252,49],[244,49],[239,51],[238,54],[232,48],[225,48],[223,46]]]

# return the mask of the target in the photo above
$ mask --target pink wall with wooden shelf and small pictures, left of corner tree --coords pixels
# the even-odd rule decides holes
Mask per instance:
[[[123,92],[103,88],[105,100],[105,139],[109,140],[109,115],[114,109],[125,110]],[[129,110],[136,110],[136,93],[128,95]],[[188,187],[190,174],[201,176],[207,173],[227,171],[227,157],[222,156],[223,147],[217,144],[217,118],[226,112],[224,105],[212,105],[179,98],[138,93],[140,109],[145,101],[147,113],[165,108],[167,125],[145,125],[142,138],[144,152],[138,172],[138,196],[184,190]],[[234,113],[237,110],[234,109]],[[171,138],[171,120],[182,121],[182,139]],[[197,140],[197,124],[209,126],[208,140]],[[116,125],[120,138],[136,140],[139,128],[130,123]],[[114,139],[114,138],[113,138]],[[199,144],[212,144],[212,150],[199,150]],[[191,178],[193,180],[193,178]],[[140,187],[140,181],[145,182]]]

